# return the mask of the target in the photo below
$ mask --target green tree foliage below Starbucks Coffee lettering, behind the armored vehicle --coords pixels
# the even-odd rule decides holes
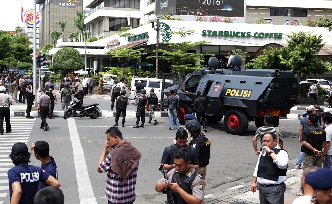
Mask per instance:
[[[317,58],[317,54],[324,46],[322,36],[312,32],[292,32],[286,35],[287,47],[280,49],[270,47],[263,50],[263,55],[246,64],[246,68],[254,69],[286,69],[297,74],[299,81],[312,75],[322,75],[331,69],[329,62]]]

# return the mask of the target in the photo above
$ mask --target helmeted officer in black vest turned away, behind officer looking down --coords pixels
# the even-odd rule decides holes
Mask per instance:
[[[185,128],[193,136],[189,145],[194,147],[198,154],[199,169],[197,170],[205,179],[206,166],[210,163],[211,141],[207,139],[204,133],[201,133],[201,124],[197,120],[188,121]]]

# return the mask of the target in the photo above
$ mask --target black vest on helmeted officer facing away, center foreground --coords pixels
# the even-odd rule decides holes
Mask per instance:
[[[190,146],[193,146],[194,142],[197,143],[196,141],[202,145],[201,152],[197,152],[199,166],[207,166],[210,163],[211,158],[211,141],[202,133],[193,137],[193,140],[190,141]]]

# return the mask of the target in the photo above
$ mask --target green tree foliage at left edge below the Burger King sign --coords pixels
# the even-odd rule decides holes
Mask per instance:
[[[15,67],[19,63],[32,63],[29,37],[0,30],[0,67]]]

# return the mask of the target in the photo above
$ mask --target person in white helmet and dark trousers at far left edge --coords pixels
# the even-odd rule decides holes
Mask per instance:
[[[9,105],[13,103],[12,98],[6,94],[6,88],[0,86],[0,135],[4,134],[4,117],[6,121],[6,133],[12,131],[12,126],[10,125],[10,110]]]

